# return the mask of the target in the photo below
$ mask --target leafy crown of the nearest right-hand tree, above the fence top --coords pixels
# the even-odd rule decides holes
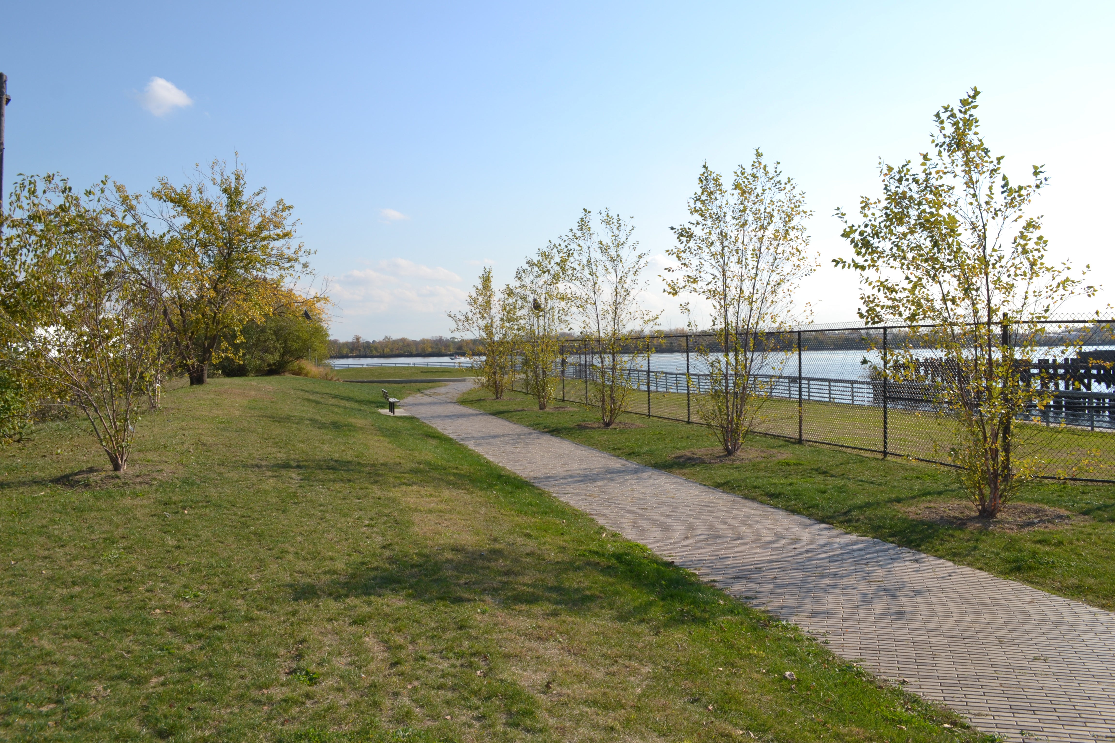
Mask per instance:
[[[855,257],[841,267],[864,272],[862,316],[869,323],[899,317],[915,323],[991,322],[1048,315],[1082,282],[1068,266],[1045,261],[1041,223],[1025,209],[1048,179],[1012,185],[1004,156],[992,157],[975,115],[979,90],[934,115],[931,153],[915,169],[910,160],[880,164],[881,198],[864,197],[859,224],[842,236]]]

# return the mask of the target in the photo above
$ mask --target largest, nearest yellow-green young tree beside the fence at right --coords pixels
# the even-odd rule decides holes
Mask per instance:
[[[917,167],[880,164],[883,195],[861,199],[861,223],[837,213],[855,257],[834,263],[862,272],[867,323],[910,325],[891,379],[921,385],[954,423],[942,443],[979,516],[993,518],[1037,465],[1016,420],[1051,398],[1022,382],[1018,360],[1046,344],[1043,321],[1066,299],[1095,289],[1047,262],[1040,217],[1026,215],[1047,178],[1034,166],[1029,183],[1010,182],[980,135],[979,95],[935,114]]]

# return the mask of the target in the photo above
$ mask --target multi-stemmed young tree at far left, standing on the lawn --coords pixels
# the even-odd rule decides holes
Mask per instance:
[[[104,201],[55,176],[23,178],[4,218],[7,342],[0,365],[85,414],[115,471],[158,371],[163,325],[110,250],[138,233]]]

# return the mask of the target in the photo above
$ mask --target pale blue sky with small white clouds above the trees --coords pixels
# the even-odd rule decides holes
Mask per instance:
[[[1047,166],[1035,212],[1053,255],[1115,287],[1111,2],[3,12],[7,184],[58,170],[144,189],[239,151],[251,184],[295,206],[342,339],[448,335],[481,265],[508,281],[582,207],[632,216],[653,278],[701,163],[730,170],[755,147],[815,211],[824,266],[803,300],[818,321],[851,320],[855,277],[827,265],[847,253],[834,208],[878,193],[878,159],[917,157],[933,111],[971,85],[1008,170]],[[682,324],[651,284],[647,304]]]

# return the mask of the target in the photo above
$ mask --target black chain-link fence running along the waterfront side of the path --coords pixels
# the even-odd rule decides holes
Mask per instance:
[[[1038,477],[1115,482],[1112,322],[1048,323],[1038,348],[1050,355],[1019,361],[1020,382],[1046,391],[1035,392],[1035,402],[1014,427],[1016,456],[1026,457]],[[895,381],[885,371],[906,331],[808,326],[765,334],[767,364],[753,377],[764,391],[754,431],[799,443],[949,465],[949,448],[958,440],[956,423],[934,409],[925,383]],[[643,342],[652,352],[623,372],[631,390],[628,412],[702,424],[710,374],[699,350],[717,353],[715,336],[658,335]],[[1055,358],[1066,342],[1082,351]],[[589,402],[599,381],[591,343],[566,342],[555,371],[562,401]],[[521,379],[515,389],[525,391]],[[1044,404],[1038,404],[1038,397]]]

